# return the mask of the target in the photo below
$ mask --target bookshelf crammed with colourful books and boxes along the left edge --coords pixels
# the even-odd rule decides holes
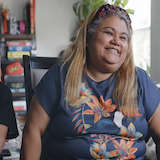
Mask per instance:
[[[10,1],[8,2],[10,3]],[[22,52],[25,52],[26,49],[24,51],[22,48],[27,48],[28,46],[27,44],[22,46],[22,42],[23,44],[27,42],[34,44],[34,47],[30,46],[30,50],[27,50],[27,52],[30,52],[30,54],[32,53],[33,49],[36,49],[35,0],[25,1],[23,7],[24,13],[22,13],[22,15],[24,15],[24,17],[23,19],[17,19],[16,17],[14,17],[14,15],[9,14],[9,16],[4,17],[4,12],[6,10],[3,6],[0,5],[0,62],[2,71],[1,77],[2,82],[5,83],[12,92],[13,107],[16,113],[17,125],[19,130],[19,136],[16,139],[9,140],[7,143],[5,143],[4,148],[8,149],[11,153],[11,156],[5,157],[5,159],[17,160],[19,159],[22,130],[24,127],[26,114],[24,74],[22,57],[16,57],[16,54],[19,55],[19,53],[14,53],[15,57],[9,57],[8,52],[21,52],[20,54],[23,55]],[[9,19],[7,19],[8,17]],[[23,24],[23,27],[20,25],[20,22],[21,24]],[[16,45],[9,45],[9,43],[14,42],[17,42]],[[12,50],[11,48],[13,48],[14,50]],[[18,65],[14,65],[16,63]],[[7,70],[7,68],[10,68],[10,70]],[[14,72],[14,74],[9,74],[8,71]],[[17,73],[15,73],[15,71],[17,71]],[[20,72],[20,74],[18,72]]]

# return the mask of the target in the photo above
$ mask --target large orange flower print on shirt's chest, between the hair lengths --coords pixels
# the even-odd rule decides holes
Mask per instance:
[[[91,95],[91,99],[92,101],[86,102],[91,109],[85,110],[83,114],[94,114],[94,123],[98,122],[102,116],[109,117],[110,113],[116,109],[116,105],[112,104],[112,99],[104,101],[100,96],[99,101],[94,95]]]

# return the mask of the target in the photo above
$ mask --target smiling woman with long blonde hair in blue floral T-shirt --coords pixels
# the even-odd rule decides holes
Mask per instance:
[[[150,127],[160,135],[160,91],[136,68],[131,20],[109,4],[82,23],[64,60],[35,89],[23,160],[144,159]],[[34,154],[33,154],[34,153]]]

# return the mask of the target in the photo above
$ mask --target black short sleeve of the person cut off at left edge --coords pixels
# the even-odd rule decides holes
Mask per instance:
[[[7,139],[16,138],[18,129],[10,89],[0,83],[0,124],[8,127]]]

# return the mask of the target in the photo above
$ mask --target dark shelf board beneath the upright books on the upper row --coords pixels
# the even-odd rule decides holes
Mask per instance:
[[[2,34],[0,35],[0,40],[33,40],[35,35],[31,34],[22,34],[22,35],[11,35],[11,34]]]

